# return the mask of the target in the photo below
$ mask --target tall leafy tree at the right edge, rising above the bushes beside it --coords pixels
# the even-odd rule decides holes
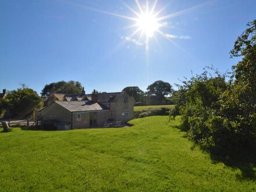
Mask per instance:
[[[233,66],[234,82],[221,101],[221,110],[232,122],[230,129],[237,129],[243,141],[256,131],[256,20],[247,26],[230,51],[231,58],[243,58]]]

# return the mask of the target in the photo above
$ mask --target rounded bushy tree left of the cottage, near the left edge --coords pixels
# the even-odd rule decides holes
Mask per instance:
[[[10,114],[18,118],[29,115],[34,109],[42,106],[41,97],[36,91],[27,87],[8,91],[4,102]]]

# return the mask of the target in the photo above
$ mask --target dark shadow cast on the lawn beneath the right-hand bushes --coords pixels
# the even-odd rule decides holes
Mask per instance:
[[[233,169],[240,169],[241,174],[236,177],[239,180],[256,181],[256,142],[253,141],[247,147],[240,148],[229,155],[219,155],[214,152],[210,153],[214,163],[222,162],[224,165]]]

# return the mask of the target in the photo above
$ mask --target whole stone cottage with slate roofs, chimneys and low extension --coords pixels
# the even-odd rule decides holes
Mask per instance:
[[[49,105],[37,112],[45,120],[69,123],[71,129],[103,126],[108,120],[125,123],[133,119],[134,100],[125,92],[85,94],[54,93]]]

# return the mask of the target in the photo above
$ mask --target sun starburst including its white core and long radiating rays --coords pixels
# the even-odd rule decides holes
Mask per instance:
[[[154,37],[155,42],[157,42],[158,46],[160,47],[157,35],[161,35],[166,40],[170,41],[173,45],[175,45],[177,48],[180,48],[173,40],[175,39],[187,40],[187,39],[190,39],[190,36],[187,36],[187,35],[179,36],[179,35],[165,33],[165,30],[163,30],[163,28],[178,29],[175,26],[173,26],[173,24],[169,25],[169,23],[166,20],[183,15],[185,13],[192,12],[206,5],[212,6],[212,1],[209,1],[209,2],[202,3],[200,5],[193,6],[191,8],[170,13],[168,15],[162,15],[163,10],[169,5],[169,3],[166,6],[158,7],[157,4],[159,0],[144,0],[144,3],[140,3],[140,1],[142,0],[134,0],[137,5],[137,6],[134,6],[135,7],[134,9],[132,6],[123,2],[123,0],[119,0],[119,1],[123,5],[125,5],[126,8],[130,9],[133,15],[131,16],[120,15],[119,13],[116,13],[116,12],[107,12],[105,10],[91,8],[90,6],[85,6],[80,3],[73,3],[73,2],[66,2],[66,3],[68,3],[69,5],[80,6],[81,8],[88,9],[94,12],[103,13],[106,15],[111,15],[111,16],[120,17],[122,19],[133,21],[131,25],[124,27],[124,29],[129,29],[129,30],[131,28],[135,28],[135,29],[132,30],[130,35],[126,37],[122,37],[123,41],[120,42],[120,44],[117,45],[113,49],[113,51],[118,49],[126,41],[132,41],[136,45],[145,45],[145,49],[148,51],[150,38],[152,37]],[[138,39],[133,38],[134,35],[137,35],[138,33],[140,33],[140,37]],[[184,50],[182,49],[182,51]]]

